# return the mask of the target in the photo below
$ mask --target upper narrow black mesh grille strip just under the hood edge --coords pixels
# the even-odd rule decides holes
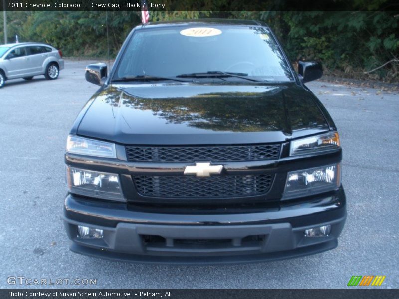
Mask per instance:
[[[258,161],[280,156],[280,145],[242,146],[126,146],[128,161],[133,162],[198,162]]]

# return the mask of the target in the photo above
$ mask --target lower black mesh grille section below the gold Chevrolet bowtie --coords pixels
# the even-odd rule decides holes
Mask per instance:
[[[273,174],[195,176],[133,176],[142,196],[158,198],[236,198],[266,194]]]

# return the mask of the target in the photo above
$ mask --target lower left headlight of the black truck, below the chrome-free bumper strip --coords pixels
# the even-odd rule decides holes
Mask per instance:
[[[66,167],[66,177],[71,193],[125,201],[117,174]]]

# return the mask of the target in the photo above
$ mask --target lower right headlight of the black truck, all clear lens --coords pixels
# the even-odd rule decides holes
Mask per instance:
[[[309,196],[341,185],[340,164],[288,172],[283,199]]]

